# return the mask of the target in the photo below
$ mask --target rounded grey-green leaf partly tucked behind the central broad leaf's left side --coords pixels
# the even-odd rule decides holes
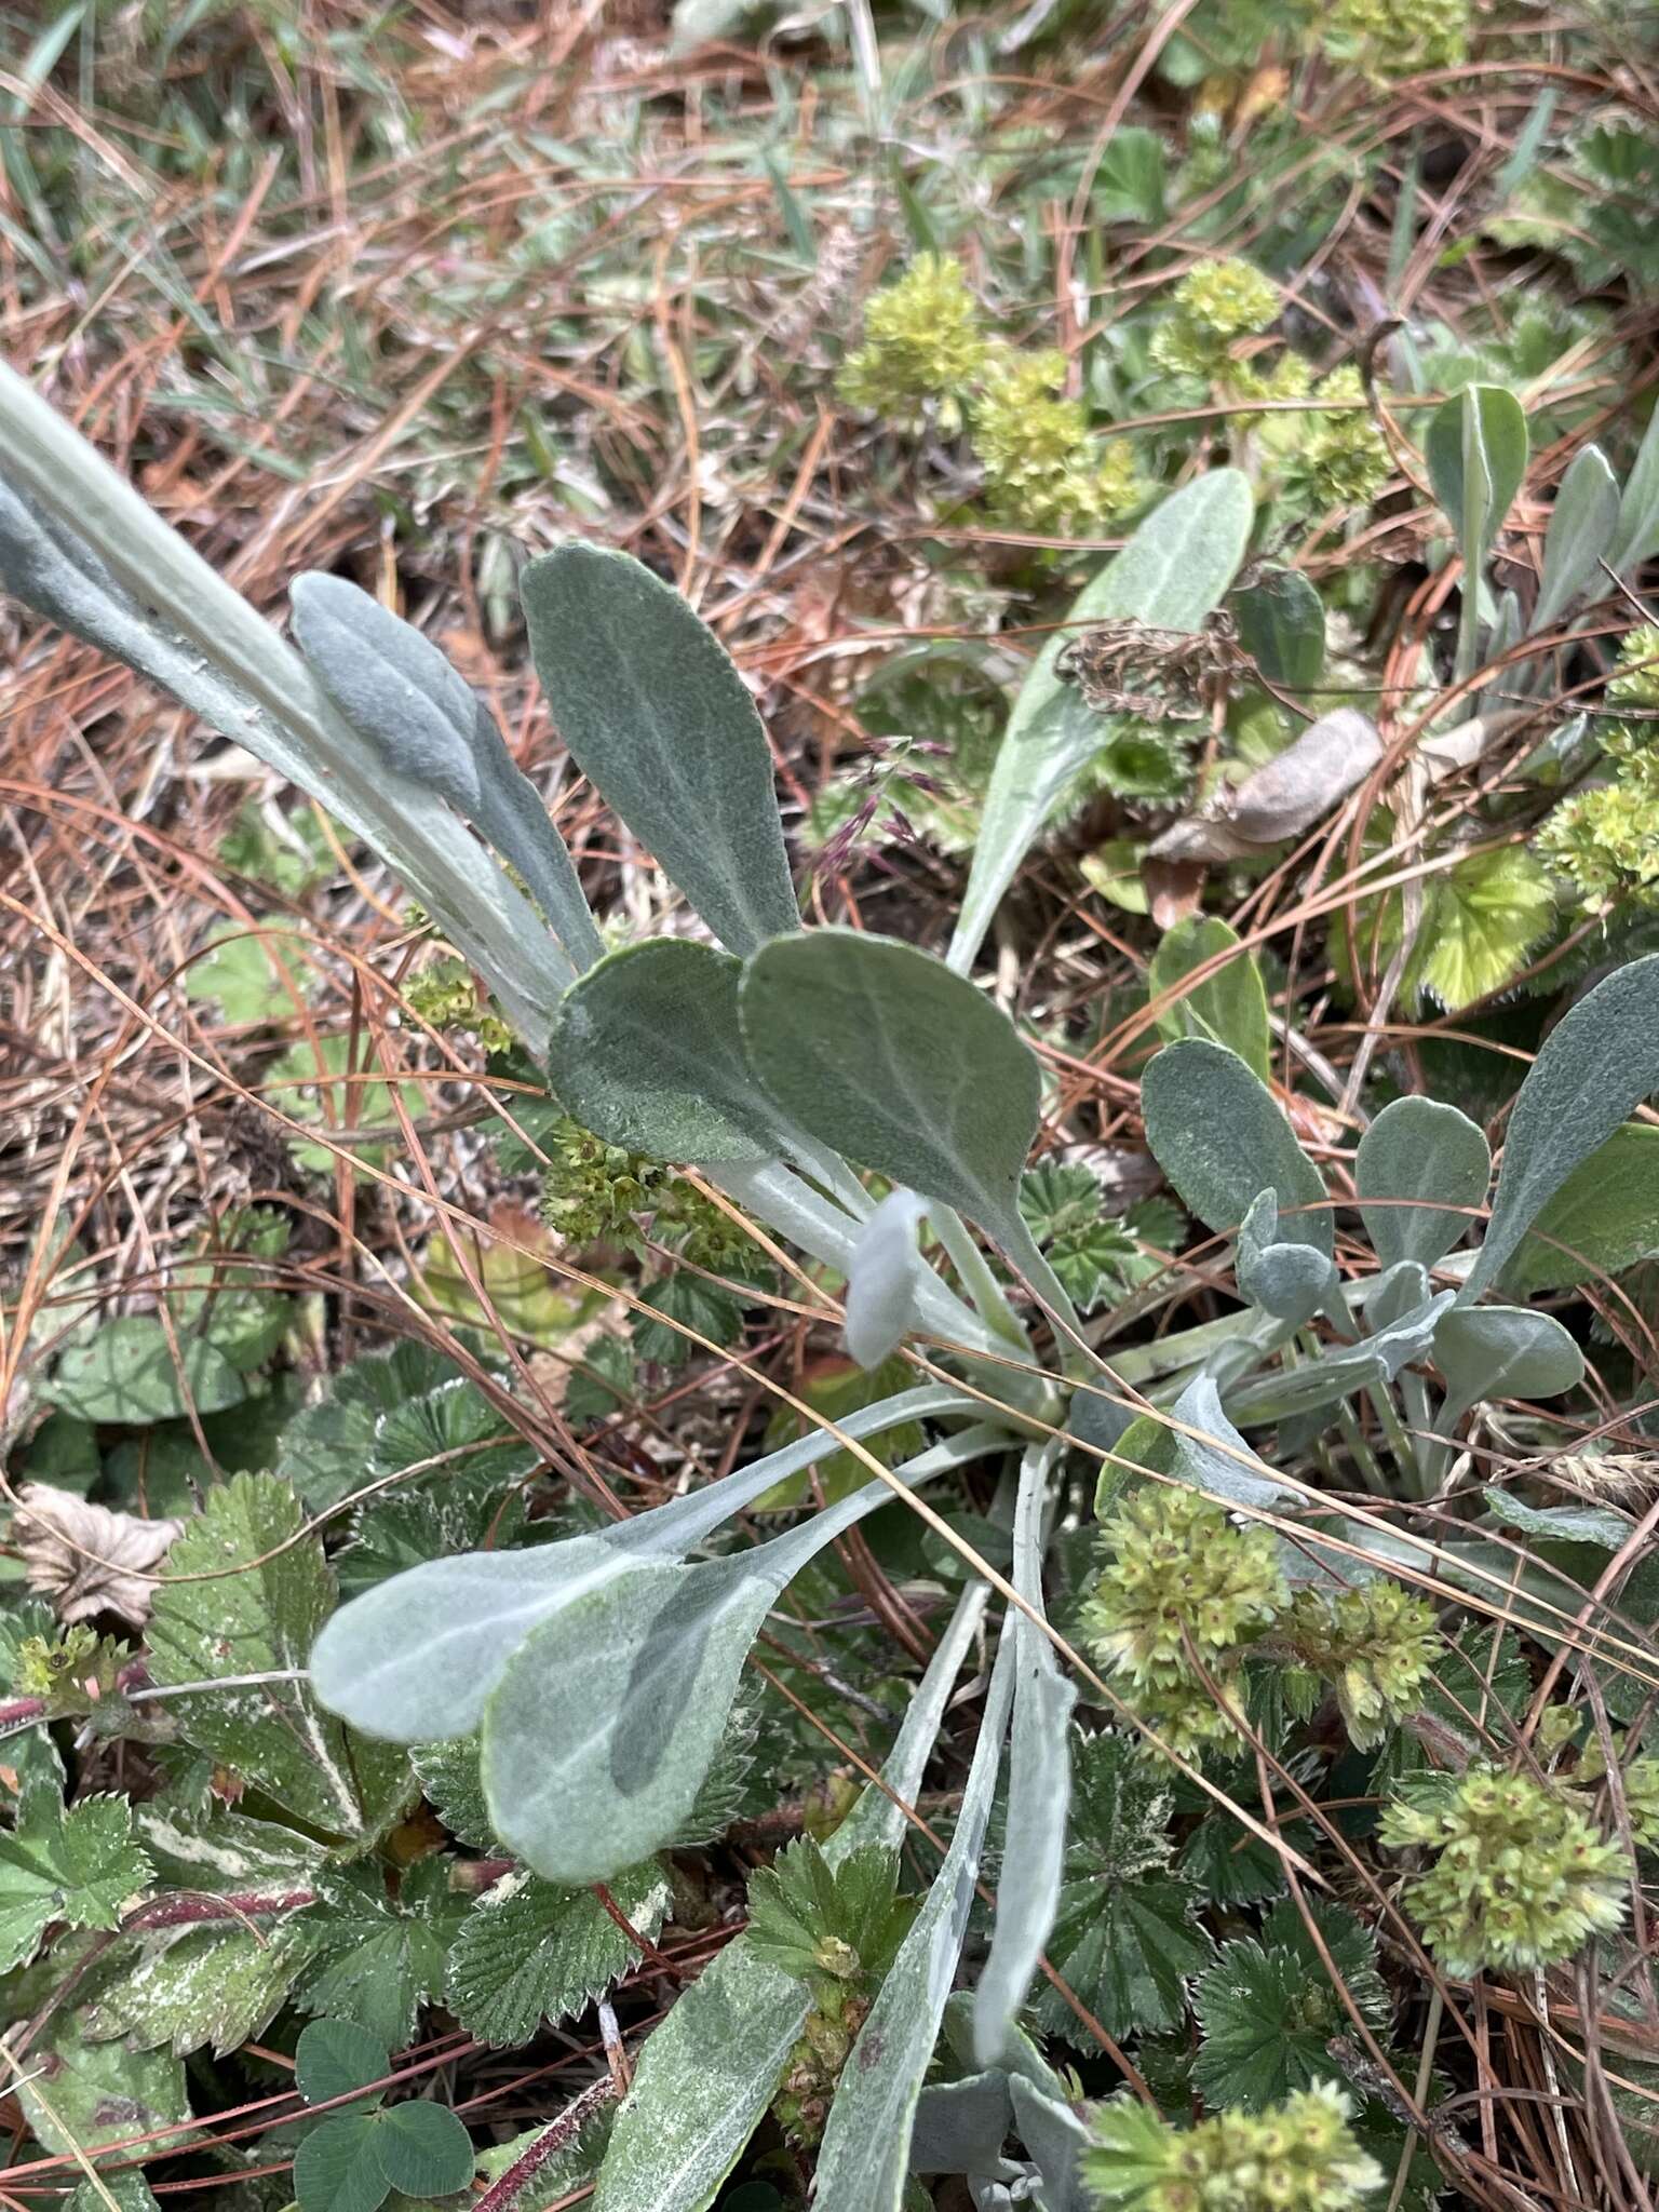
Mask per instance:
[[[741,973],[688,938],[608,953],[553,1020],[553,1095],[606,1144],[655,1159],[772,1159],[783,1117],[743,1051]]]

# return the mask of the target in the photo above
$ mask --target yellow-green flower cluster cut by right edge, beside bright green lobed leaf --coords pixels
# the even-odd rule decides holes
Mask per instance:
[[[1659,712],[1659,628],[1630,630],[1608,679],[1619,708]],[[1659,723],[1615,721],[1601,732],[1610,781],[1566,799],[1537,832],[1540,856],[1579,900],[1604,911],[1621,900],[1659,907]]]

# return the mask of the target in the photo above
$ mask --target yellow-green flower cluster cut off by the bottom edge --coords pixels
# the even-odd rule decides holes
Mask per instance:
[[[1115,2099],[1095,2112],[1084,2179],[1102,2212],[1358,2212],[1385,2174],[1354,2135],[1347,2097],[1321,2081],[1197,2128]]]

